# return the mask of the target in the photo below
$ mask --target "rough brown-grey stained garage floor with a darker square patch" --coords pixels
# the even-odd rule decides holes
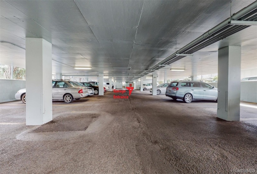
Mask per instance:
[[[1,173],[257,171],[255,122],[217,119],[212,102],[184,104],[149,91],[133,90],[129,99],[113,94],[53,101],[54,120],[43,126],[25,125],[21,101],[0,104]],[[241,107],[241,117],[256,111]]]

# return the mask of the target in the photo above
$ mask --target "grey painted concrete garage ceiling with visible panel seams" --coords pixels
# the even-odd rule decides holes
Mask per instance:
[[[0,63],[25,67],[25,38],[34,37],[52,43],[53,73],[138,75],[227,19],[230,2],[1,0]],[[254,1],[232,2],[236,13]],[[228,45],[242,46],[242,69],[256,68],[256,30],[251,26],[170,66],[186,71],[165,67],[157,74],[162,80],[217,73],[217,50]]]

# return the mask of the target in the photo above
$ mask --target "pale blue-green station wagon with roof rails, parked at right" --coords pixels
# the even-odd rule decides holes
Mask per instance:
[[[218,89],[198,80],[182,80],[170,82],[166,88],[166,96],[182,99],[185,103],[192,100],[218,100]]]

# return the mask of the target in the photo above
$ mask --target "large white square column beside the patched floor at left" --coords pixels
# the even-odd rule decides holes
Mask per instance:
[[[26,125],[52,119],[52,44],[26,38]]]

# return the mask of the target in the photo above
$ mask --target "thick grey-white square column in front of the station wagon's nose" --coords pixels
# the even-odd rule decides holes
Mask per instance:
[[[218,50],[217,117],[240,121],[241,47],[228,46]]]

